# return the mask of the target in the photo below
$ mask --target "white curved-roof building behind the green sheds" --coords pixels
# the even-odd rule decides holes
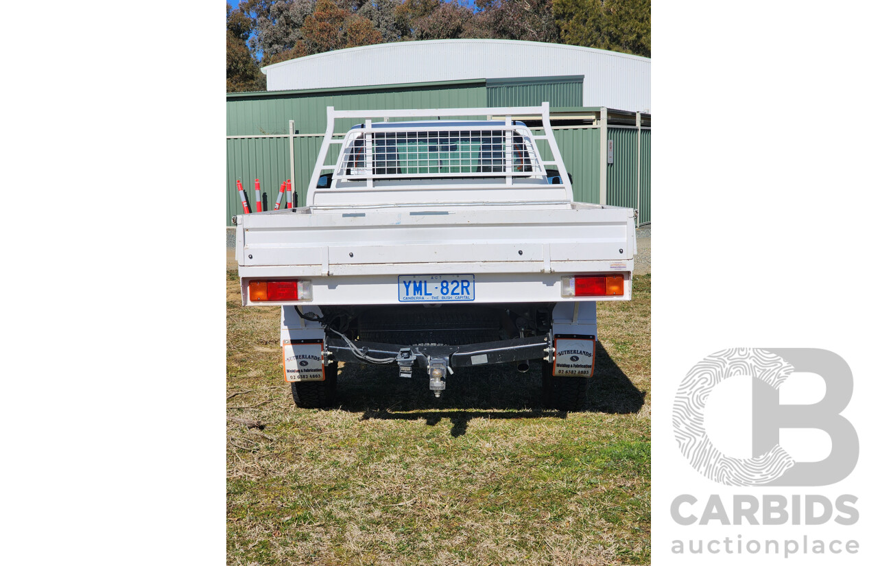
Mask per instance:
[[[510,39],[435,39],[351,47],[263,67],[268,90],[584,75],[583,106],[650,109],[650,61],[589,47]]]

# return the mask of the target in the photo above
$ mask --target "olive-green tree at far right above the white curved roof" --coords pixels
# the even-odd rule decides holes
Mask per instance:
[[[650,56],[650,0],[555,0],[568,45]]]

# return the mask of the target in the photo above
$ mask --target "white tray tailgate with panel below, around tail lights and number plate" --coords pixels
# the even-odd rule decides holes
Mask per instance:
[[[250,279],[307,278],[311,304],[398,304],[399,276],[468,274],[476,303],[573,300],[560,277],[625,278],[636,253],[631,209],[278,211],[239,216],[244,304]],[[260,304],[291,304],[287,302]]]

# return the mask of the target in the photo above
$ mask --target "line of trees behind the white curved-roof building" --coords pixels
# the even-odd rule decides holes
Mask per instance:
[[[248,68],[239,40],[263,65],[405,39],[524,39],[650,56],[650,0],[462,2],[243,0],[237,11],[227,8],[234,36],[228,52],[244,85],[239,88],[264,84],[263,75]]]

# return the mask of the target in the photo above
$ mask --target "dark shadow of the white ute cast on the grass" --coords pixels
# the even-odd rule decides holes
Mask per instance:
[[[638,390],[623,370],[597,343],[596,377],[588,385],[586,412],[632,413],[644,405]],[[448,376],[441,398],[428,387],[427,372],[415,369],[411,378],[399,377],[393,367],[344,365],[338,372],[338,398],[342,411],[362,412],[363,420],[421,420],[435,426],[442,419],[452,423],[451,436],[466,433],[472,419],[565,419],[563,411],[543,410],[540,364],[531,362],[527,373],[512,364],[457,369]]]

